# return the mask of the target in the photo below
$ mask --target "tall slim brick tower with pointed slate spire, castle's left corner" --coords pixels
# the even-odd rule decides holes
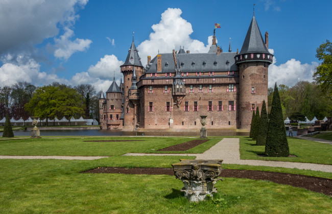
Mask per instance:
[[[135,115],[136,113],[136,106],[133,101],[129,99],[129,89],[132,86],[132,76],[134,73],[135,67],[135,79],[136,82],[139,81],[139,77],[143,74],[144,67],[140,62],[140,57],[138,56],[138,50],[134,44],[134,38],[131,43],[131,46],[128,50],[128,55],[126,61],[121,67],[121,72],[124,75],[124,83],[123,83],[123,96],[124,96],[124,129],[133,129],[135,127]],[[131,91],[132,92],[132,91]]]

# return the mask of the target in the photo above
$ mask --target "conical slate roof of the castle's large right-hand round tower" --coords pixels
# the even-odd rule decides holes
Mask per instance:
[[[243,53],[270,53],[265,45],[262,34],[260,34],[255,16],[252,17],[246,38],[239,54]]]

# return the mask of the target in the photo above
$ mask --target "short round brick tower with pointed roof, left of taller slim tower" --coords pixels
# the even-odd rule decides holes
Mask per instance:
[[[104,127],[107,129],[122,128],[122,91],[115,83],[115,77],[113,83],[106,91],[106,108],[103,113],[106,114],[106,121],[104,121]],[[106,127],[105,127],[106,125]]]

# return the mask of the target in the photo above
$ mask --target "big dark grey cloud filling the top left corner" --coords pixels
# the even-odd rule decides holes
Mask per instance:
[[[31,47],[58,34],[58,24],[72,25],[75,7],[87,0],[0,1],[0,55]]]

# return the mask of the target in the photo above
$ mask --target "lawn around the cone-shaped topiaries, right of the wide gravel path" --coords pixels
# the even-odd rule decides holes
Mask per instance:
[[[290,154],[297,157],[260,157],[265,153],[265,146],[256,146],[256,141],[249,137],[240,138],[241,159],[258,159],[265,161],[285,161],[332,165],[332,146],[315,141],[288,138]]]

